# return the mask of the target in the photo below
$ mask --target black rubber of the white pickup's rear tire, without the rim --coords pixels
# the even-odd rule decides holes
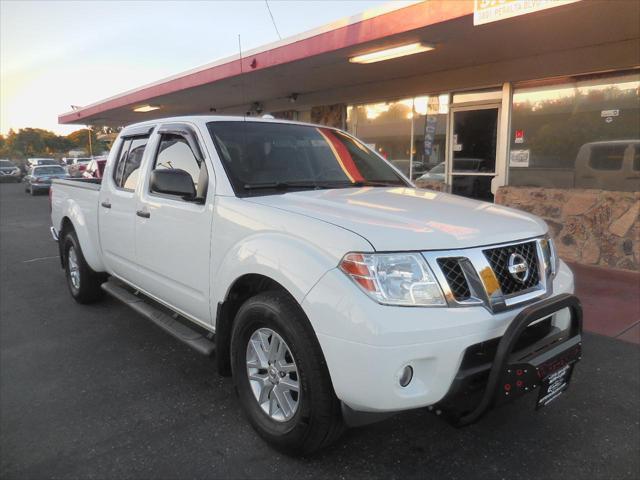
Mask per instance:
[[[100,288],[105,280],[106,276],[102,273],[94,272],[87,264],[80,248],[80,242],[78,242],[78,236],[73,230],[69,230],[64,234],[62,241],[62,260],[64,265],[65,278],[67,280],[67,287],[69,287],[69,293],[73,299],[78,303],[93,303],[100,300],[104,296],[104,291]],[[71,249],[75,253],[77,273],[79,281],[77,285],[72,280],[71,268],[69,263],[69,256]]]

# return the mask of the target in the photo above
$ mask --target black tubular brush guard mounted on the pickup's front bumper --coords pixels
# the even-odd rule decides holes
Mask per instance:
[[[542,338],[522,347],[528,327],[565,308],[571,317],[567,330],[550,328]],[[435,406],[436,412],[442,412],[456,426],[469,425],[494,406],[539,391],[545,378],[554,372],[569,369],[571,374],[582,356],[580,300],[562,294],[527,307],[496,341],[493,359],[481,365],[463,365],[449,393]]]

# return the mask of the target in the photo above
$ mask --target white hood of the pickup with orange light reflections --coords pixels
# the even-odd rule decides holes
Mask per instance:
[[[477,247],[547,231],[542,220],[518,210],[414,188],[313,190],[246,200],[338,225],[377,251]]]

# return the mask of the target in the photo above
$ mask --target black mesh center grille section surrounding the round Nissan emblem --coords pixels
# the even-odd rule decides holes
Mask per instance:
[[[537,286],[540,282],[536,242],[490,248],[483,250],[483,252],[500,283],[500,288],[504,295],[528,290]],[[509,258],[514,253],[521,255],[529,267],[529,274],[522,282],[516,280],[509,272]]]

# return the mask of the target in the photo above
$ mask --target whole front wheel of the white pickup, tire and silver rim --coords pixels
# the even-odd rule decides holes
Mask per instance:
[[[233,325],[231,364],[249,421],[277,449],[311,453],[342,433],[340,402],[320,345],[286,293],[261,293],[242,305]]]

